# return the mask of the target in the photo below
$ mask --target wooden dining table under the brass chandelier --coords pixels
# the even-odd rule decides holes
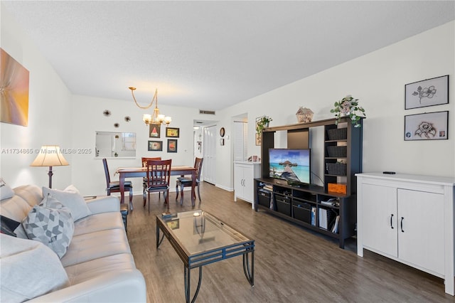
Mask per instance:
[[[137,167],[119,167],[115,171],[115,174],[119,174],[119,186],[120,186],[120,203],[125,201],[124,184],[127,178],[143,178],[147,176],[147,168],[143,166]],[[185,176],[191,175],[191,205],[194,206],[196,199],[196,169],[193,166],[171,166],[171,176]],[[169,207],[169,205],[168,205]]]

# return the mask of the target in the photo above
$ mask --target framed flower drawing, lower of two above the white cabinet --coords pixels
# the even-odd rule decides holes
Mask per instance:
[[[449,111],[405,116],[405,141],[449,139]]]

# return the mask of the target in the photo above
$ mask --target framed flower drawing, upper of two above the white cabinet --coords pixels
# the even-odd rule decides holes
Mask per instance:
[[[449,103],[449,75],[405,85],[405,110]]]

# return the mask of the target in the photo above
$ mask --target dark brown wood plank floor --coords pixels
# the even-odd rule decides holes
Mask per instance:
[[[202,203],[196,201],[196,208],[255,239],[255,287],[243,273],[242,257],[234,257],[203,267],[196,302],[455,302],[438,277],[366,250],[358,257],[355,239],[342,250],[331,238],[234,202],[232,192],[200,186]],[[175,196],[170,194],[171,212],[191,211],[188,191],[183,206]],[[142,196],[134,196],[133,203],[128,238],[148,302],[185,302],[183,262],[166,239],[159,250],[155,247],[156,215],[166,211],[162,197],[151,196],[150,213]],[[197,269],[191,277],[196,287]]]

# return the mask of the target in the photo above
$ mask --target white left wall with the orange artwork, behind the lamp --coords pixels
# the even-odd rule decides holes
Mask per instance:
[[[42,145],[70,147],[70,92],[21,26],[0,7],[0,46],[30,72],[28,127],[0,123],[0,176],[11,186],[48,186],[48,168],[29,165]],[[64,156],[72,162],[70,154]],[[71,166],[54,167],[53,187],[70,184],[71,170]]]

